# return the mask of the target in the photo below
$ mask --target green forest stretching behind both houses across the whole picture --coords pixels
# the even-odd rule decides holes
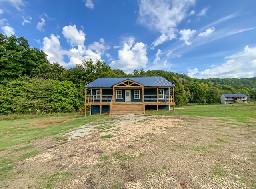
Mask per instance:
[[[103,60],[82,60],[73,68],[50,63],[28,40],[0,34],[1,114],[84,111],[84,86],[100,77],[163,76],[175,87],[176,105],[220,103],[220,95],[244,93],[256,99],[256,77],[197,79],[163,70],[112,70]]]

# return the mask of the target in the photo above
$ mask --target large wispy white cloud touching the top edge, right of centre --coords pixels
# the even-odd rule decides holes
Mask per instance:
[[[188,8],[194,1],[140,1],[138,23],[160,32],[152,42],[154,47],[176,38],[176,28],[186,18]]]

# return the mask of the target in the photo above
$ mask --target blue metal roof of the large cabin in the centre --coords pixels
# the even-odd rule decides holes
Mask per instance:
[[[91,87],[112,87],[125,80],[132,80],[136,83],[142,84],[145,87],[174,87],[175,85],[166,80],[164,77],[127,77],[127,78],[98,78],[93,82],[87,84],[86,88]]]

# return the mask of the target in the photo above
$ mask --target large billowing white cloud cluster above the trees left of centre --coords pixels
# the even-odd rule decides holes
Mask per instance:
[[[78,31],[76,25],[63,27],[62,34],[72,48],[63,50],[60,45],[60,36],[51,34],[50,38],[44,38],[43,50],[48,55],[47,59],[49,62],[58,62],[64,67],[75,66],[76,64],[81,63],[84,59],[101,59],[101,55],[110,48],[105,44],[103,38],[101,38],[99,42],[89,44],[88,48],[86,48],[84,44],[86,34],[81,30]],[[68,56],[69,61],[65,59],[64,62],[64,56]]]

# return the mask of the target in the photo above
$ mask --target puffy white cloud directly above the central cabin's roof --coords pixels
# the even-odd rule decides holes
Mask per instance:
[[[126,38],[122,49],[118,50],[119,60],[113,60],[110,66],[112,69],[132,73],[134,69],[146,68],[146,55],[146,45],[142,42],[134,43],[134,37],[129,37]]]

